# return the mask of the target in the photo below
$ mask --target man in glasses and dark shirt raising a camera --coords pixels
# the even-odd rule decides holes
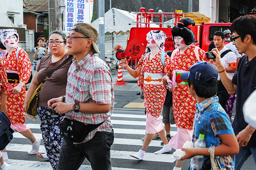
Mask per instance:
[[[232,80],[220,61],[217,49],[214,49],[214,64],[228,93],[237,92],[236,114],[232,127],[240,147],[239,154],[236,155],[235,170],[240,170],[251,154],[256,163],[256,131],[244,121],[243,114],[244,102],[256,90],[256,17],[241,16],[233,21],[230,30],[233,33],[230,37],[233,45],[236,45],[240,54],[246,55],[240,59]]]

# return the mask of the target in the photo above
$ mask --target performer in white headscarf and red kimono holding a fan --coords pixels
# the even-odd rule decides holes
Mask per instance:
[[[166,97],[166,87],[162,82],[162,78],[166,73],[166,65],[170,61],[170,57],[164,53],[165,37],[166,34],[163,31],[150,31],[147,34],[147,47],[150,48],[151,52],[141,57],[135,70],[128,66],[127,61],[121,60],[120,62],[120,66],[124,66],[134,78],[139,77],[138,86],[144,91],[146,136],[142,149],[136,154],[130,155],[139,160],[143,160],[145,150],[155,133],[158,133],[162,139],[164,147],[154,153],[162,154],[172,150],[168,145],[160,116]]]

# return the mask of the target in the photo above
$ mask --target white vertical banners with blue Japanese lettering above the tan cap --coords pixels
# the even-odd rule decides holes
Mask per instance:
[[[94,0],[65,0],[65,31],[75,23],[91,23]]]

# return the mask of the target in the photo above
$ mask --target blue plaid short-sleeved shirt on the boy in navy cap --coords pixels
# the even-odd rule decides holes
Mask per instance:
[[[200,134],[204,134],[206,148],[222,144],[220,134],[234,134],[230,119],[225,110],[218,103],[219,98],[214,96],[201,103],[196,103],[196,114],[194,119],[194,133],[192,142],[195,144]],[[210,157],[210,156],[208,156]],[[204,160],[207,156],[204,156]],[[218,156],[222,168],[233,170],[235,165],[235,156]],[[203,160],[203,161],[204,161]],[[192,168],[190,168],[192,170]]]

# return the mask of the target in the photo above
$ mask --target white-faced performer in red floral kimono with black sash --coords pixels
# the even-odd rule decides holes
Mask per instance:
[[[16,29],[0,29],[0,39],[7,49],[7,53],[3,56],[10,89],[6,95],[8,109],[6,115],[11,121],[11,128],[30,139],[32,150],[28,154],[36,154],[41,140],[35,138],[30,128],[26,126],[25,115],[23,115],[23,104],[26,98],[25,84],[31,75],[31,62],[26,51],[17,47],[19,35]],[[8,159],[6,152],[3,152],[3,157]]]

